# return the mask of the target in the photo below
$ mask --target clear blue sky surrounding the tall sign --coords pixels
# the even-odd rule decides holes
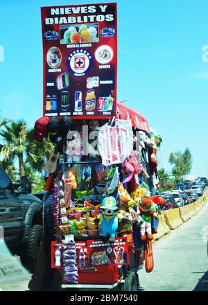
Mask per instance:
[[[30,127],[42,116],[40,7],[99,2],[107,1],[1,1],[1,116],[24,118]],[[116,2],[118,101],[127,99],[162,134],[160,166],[169,170],[171,151],[188,147],[192,174],[208,175],[208,62],[202,61],[208,1]]]

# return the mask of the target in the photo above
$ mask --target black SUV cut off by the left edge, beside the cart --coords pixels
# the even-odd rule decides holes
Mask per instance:
[[[10,251],[33,271],[42,238],[42,201],[31,194],[28,177],[12,183],[1,167],[0,226]]]

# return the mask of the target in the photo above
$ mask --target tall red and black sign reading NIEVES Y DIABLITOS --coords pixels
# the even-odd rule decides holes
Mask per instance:
[[[116,110],[116,3],[44,7],[44,116],[108,119]]]

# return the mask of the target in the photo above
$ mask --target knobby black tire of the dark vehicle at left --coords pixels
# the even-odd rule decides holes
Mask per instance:
[[[43,237],[42,225],[33,225],[28,240],[28,261],[31,272],[34,272],[37,265],[37,250]]]

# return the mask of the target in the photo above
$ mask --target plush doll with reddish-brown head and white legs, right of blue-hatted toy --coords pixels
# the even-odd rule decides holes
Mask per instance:
[[[140,239],[141,241],[149,241],[153,239],[153,234],[151,230],[151,218],[157,217],[157,213],[153,207],[152,200],[148,197],[144,197],[141,201],[139,207],[139,215],[141,216],[143,222],[140,225]]]

